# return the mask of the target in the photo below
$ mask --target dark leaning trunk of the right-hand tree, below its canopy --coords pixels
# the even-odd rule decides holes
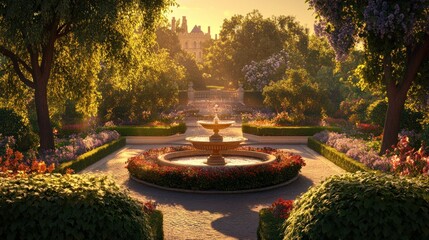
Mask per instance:
[[[384,154],[386,150],[390,149],[398,142],[398,133],[400,130],[401,115],[402,111],[404,110],[404,103],[404,96],[396,96],[396,98],[389,98],[388,100],[386,118],[384,121],[383,142],[380,149],[381,154]]]

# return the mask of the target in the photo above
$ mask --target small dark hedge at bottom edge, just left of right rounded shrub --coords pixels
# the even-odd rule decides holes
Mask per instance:
[[[259,211],[258,240],[282,240],[284,219],[275,217],[269,208]]]

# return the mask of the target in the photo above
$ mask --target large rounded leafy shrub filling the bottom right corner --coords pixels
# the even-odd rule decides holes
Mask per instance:
[[[429,181],[355,173],[304,193],[284,239],[429,239]]]

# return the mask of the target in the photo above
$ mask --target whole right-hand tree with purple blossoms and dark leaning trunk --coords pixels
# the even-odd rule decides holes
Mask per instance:
[[[315,32],[328,36],[337,58],[344,59],[362,42],[365,80],[384,84],[388,99],[381,146],[384,153],[398,141],[400,116],[410,87],[428,76],[423,70],[429,57],[429,1],[307,2],[319,17]],[[421,83],[428,84],[427,80]]]

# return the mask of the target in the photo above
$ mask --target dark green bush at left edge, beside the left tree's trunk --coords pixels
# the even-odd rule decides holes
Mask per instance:
[[[0,134],[13,136],[15,149],[25,152],[37,146],[37,136],[24,123],[21,116],[13,110],[0,108]]]

